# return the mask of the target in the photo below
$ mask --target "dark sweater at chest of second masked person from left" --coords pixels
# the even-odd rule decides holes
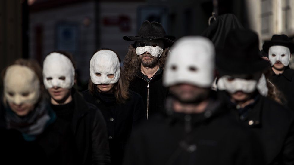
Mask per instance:
[[[67,121],[69,123],[73,120],[73,109],[74,109],[74,100],[71,102],[64,104],[64,105],[53,105],[50,104],[51,108],[56,113],[56,116],[58,118],[61,118],[64,121]]]

